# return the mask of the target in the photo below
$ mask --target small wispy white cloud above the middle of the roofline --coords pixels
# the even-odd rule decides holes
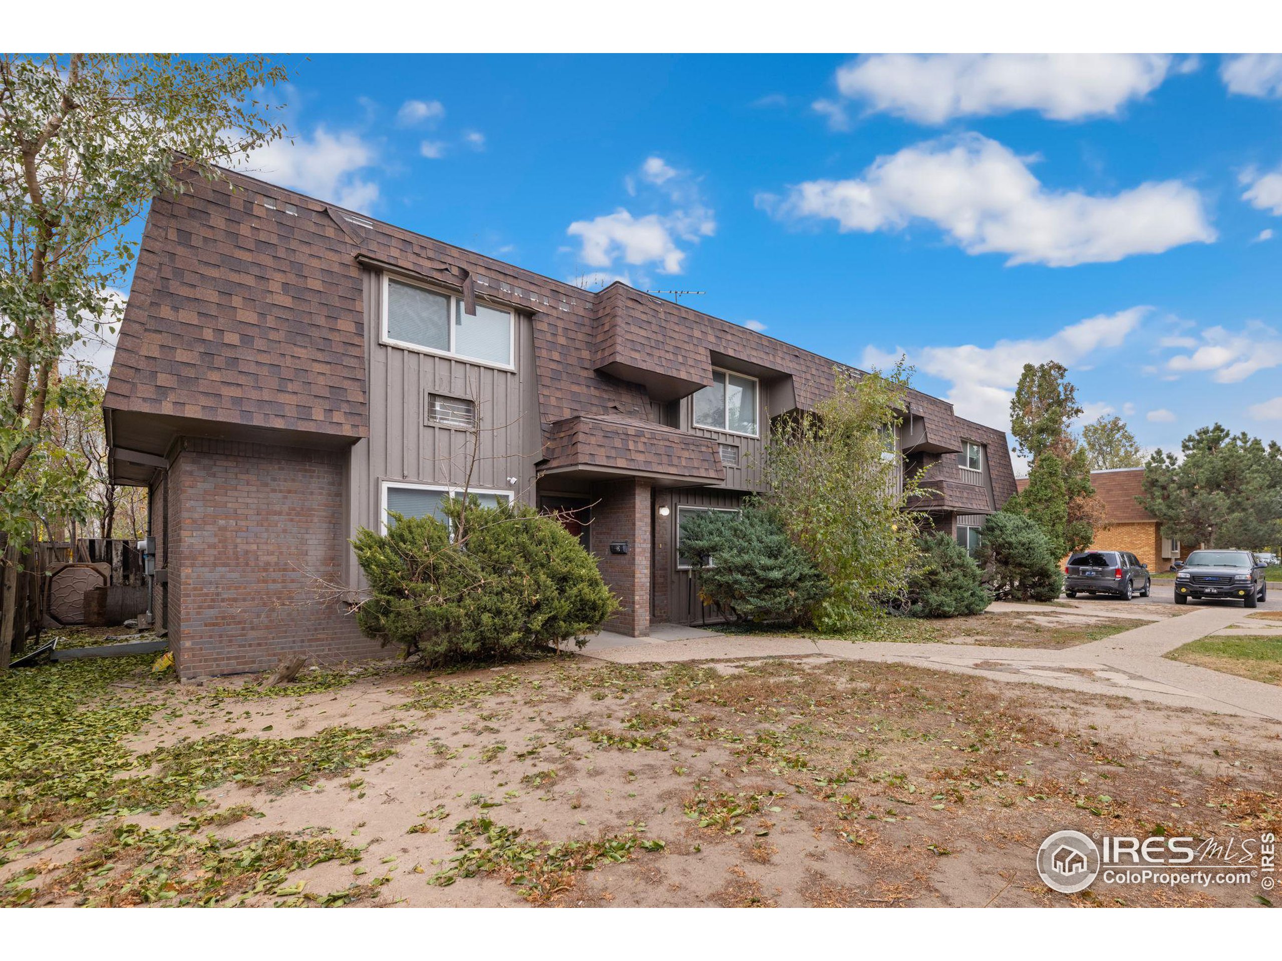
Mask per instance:
[[[704,204],[699,182],[663,158],[647,158],[635,176],[624,178],[633,196],[637,178],[650,188],[642,200],[665,210],[636,215],[620,206],[612,214],[576,220],[565,232],[579,238],[579,260],[588,267],[609,269],[622,260],[633,267],[656,264],[660,273],[678,274],[687,252],[678,241],[697,243],[712,237],[717,232],[715,217]]]

